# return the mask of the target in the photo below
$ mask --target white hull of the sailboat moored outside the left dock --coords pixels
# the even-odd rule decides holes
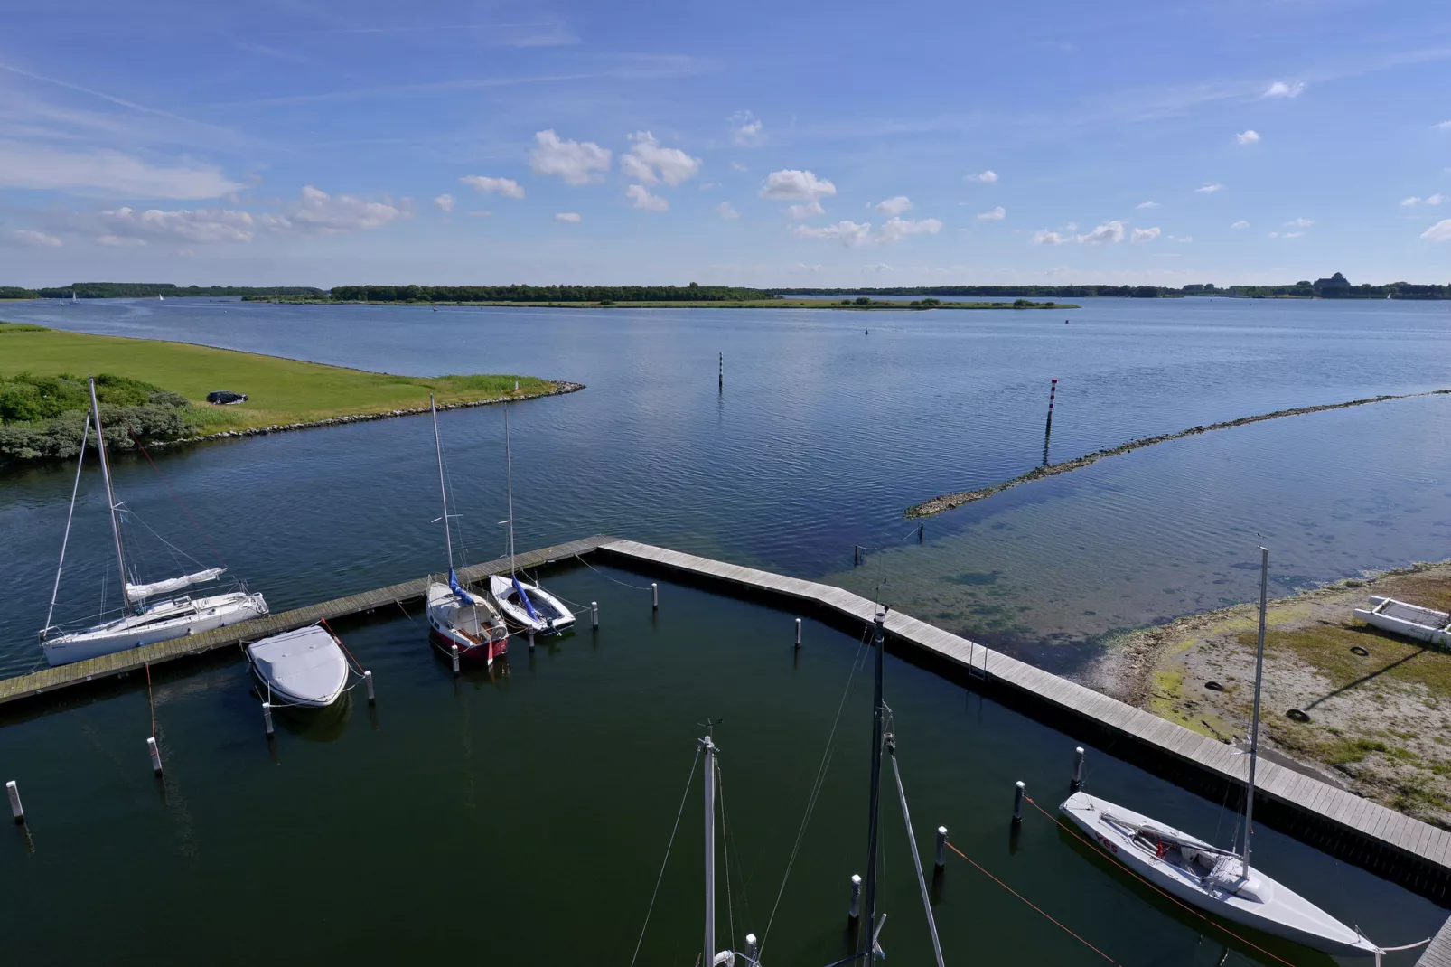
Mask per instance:
[[[139,614],[128,614],[84,632],[48,639],[41,646],[45,650],[45,661],[54,668],[123,652],[128,648],[212,632],[264,614],[267,601],[261,594],[232,591],[194,600],[183,597],[152,604]]]

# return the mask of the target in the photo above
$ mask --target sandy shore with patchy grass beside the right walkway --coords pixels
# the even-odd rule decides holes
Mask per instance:
[[[1370,594],[1448,611],[1451,560],[1271,601],[1262,748],[1451,828],[1451,653],[1355,619]],[[1084,684],[1241,742],[1254,698],[1257,621],[1258,604],[1239,604],[1126,635],[1109,643]],[[1290,719],[1291,709],[1309,722]]]

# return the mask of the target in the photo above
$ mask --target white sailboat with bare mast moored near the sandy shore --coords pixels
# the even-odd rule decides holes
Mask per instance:
[[[1378,957],[1384,950],[1358,929],[1339,922],[1290,887],[1249,865],[1270,576],[1270,552],[1264,547],[1259,550],[1259,646],[1255,658],[1254,720],[1249,727],[1244,849],[1222,849],[1149,816],[1081,791],[1069,796],[1059,812],[1130,873],[1185,903],[1328,954]]]

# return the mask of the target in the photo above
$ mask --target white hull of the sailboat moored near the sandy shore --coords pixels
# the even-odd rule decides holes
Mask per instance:
[[[1203,839],[1087,793],[1069,796],[1059,812],[1117,865],[1206,913],[1339,957],[1376,954],[1370,939],[1259,870],[1252,871],[1241,893],[1230,891],[1242,868],[1238,857]],[[1125,825],[1152,828],[1174,845],[1168,851],[1155,849]],[[1207,876],[1197,876],[1174,861],[1175,855],[1183,855],[1180,845],[1190,851],[1204,849],[1219,860],[1219,868],[1203,868]],[[1226,867],[1232,868],[1232,876],[1226,876],[1230,873]]]

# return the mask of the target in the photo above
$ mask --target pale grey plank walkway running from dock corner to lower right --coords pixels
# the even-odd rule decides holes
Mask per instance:
[[[647,565],[810,601],[866,624],[876,614],[875,603],[814,581],[785,578],[633,540],[605,540],[599,544],[599,550]],[[1039,704],[1088,719],[1241,788],[1246,783],[1248,758],[1235,755],[1229,746],[1209,736],[897,611],[888,613],[887,632],[898,640],[910,642],[963,668],[969,665],[969,656],[974,665],[981,666],[987,662],[988,677],[994,682],[1006,684]],[[1261,801],[1268,799],[1318,823],[1367,839],[1399,857],[1425,864],[1435,880],[1451,881],[1451,832],[1264,759],[1258,767],[1257,793]],[[1448,951],[1447,967],[1451,967],[1451,938],[1447,938],[1444,947]]]

